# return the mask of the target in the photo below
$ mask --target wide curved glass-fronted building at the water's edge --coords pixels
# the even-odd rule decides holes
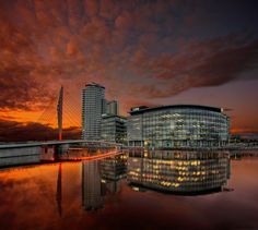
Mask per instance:
[[[132,108],[128,118],[130,146],[210,147],[228,142],[228,118],[207,106]]]

